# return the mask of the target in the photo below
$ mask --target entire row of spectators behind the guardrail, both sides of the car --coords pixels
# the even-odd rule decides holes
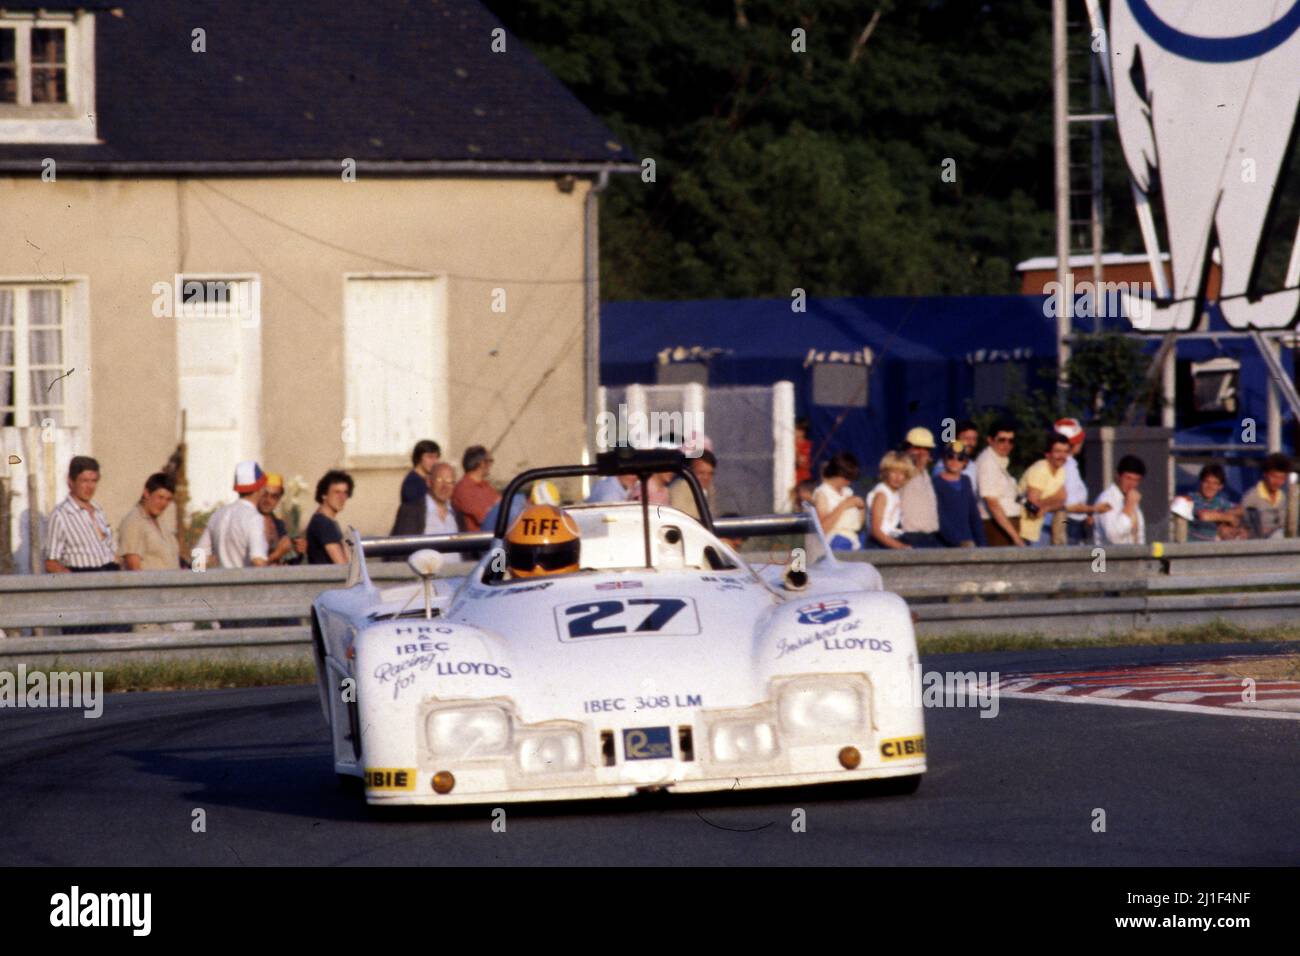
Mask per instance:
[[[1011,423],[994,421],[987,428],[983,449],[972,421],[957,423],[952,434],[953,441],[940,446],[928,428],[909,431],[901,446],[881,458],[876,483],[863,497],[855,490],[862,467],[849,451],[832,454],[819,470],[820,481],[814,480],[807,423],[800,420],[796,505],[811,503],[831,546],[844,550],[1147,542],[1141,511],[1145,466],[1132,455],[1122,457],[1112,481],[1089,502],[1079,471],[1084,429],[1078,420],[1053,423],[1043,458],[1019,476],[1011,472],[1017,438]],[[718,458],[711,442],[702,444],[690,468],[712,503]],[[455,466],[442,460],[436,441],[416,442],[391,533],[447,535],[493,528],[503,503],[491,483],[491,453],[472,445],[462,455],[458,477]],[[1286,528],[1291,472],[1286,455],[1270,455],[1258,483],[1236,502],[1225,490],[1223,467],[1206,464],[1196,489],[1175,498],[1171,511],[1187,522],[1191,541],[1277,536]],[[209,516],[192,555],[181,553],[176,535],[162,524],[176,494],[170,475],[157,472],[144,480],[139,501],[116,531],[95,502],[99,481],[100,467],[94,458],[72,459],[68,497],[51,512],[46,531],[46,571],[162,571],[190,567],[190,557],[203,561],[204,567],[348,561],[350,542],[339,515],[355,484],[344,471],[330,470],[320,477],[317,509],[302,533],[291,536],[277,514],[285,497],[283,477],[264,472],[257,462],[239,462],[233,483],[237,497]],[[636,476],[618,475],[595,481],[586,501],[640,501],[641,493]],[[673,472],[653,475],[645,493],[651,505],[670,505],[698,518],[689,484]],[[551,483],[534,483],[526,499],[519,494],[510,502],[511,518],[526,501],[560,503]],[[1053,535],[1057,524],[1062,529]]]

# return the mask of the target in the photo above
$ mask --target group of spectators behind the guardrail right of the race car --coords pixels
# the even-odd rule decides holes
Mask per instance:
[[[974,421],[957,423],[952,434],[953,441],[939,446],[928,428],[909,431],[900,447],[880,459],[876,484],[863,497],[854,490],[862,467],[849,451],[826,460],[820,483],[809,477],[807,423],[801,420],[796,503],[812,503],[831,546],[841,550],[1147,544],[1145,464],[1123,455],[1110,483],[1089,503],[1079,471],[1084,429],[1076,419],[1054,421],[1043,458],[1019,476],[1011,472],[1014,424],[993,421],[983,449]],[[1282,535],[1292,462],[1273,454],[1260,472],[1258,484],[1234,502],[1225,492],[1223,467],[1201,468],[1196,492],[1175,498],[1170,507],[1187,520],[1188,540]]]

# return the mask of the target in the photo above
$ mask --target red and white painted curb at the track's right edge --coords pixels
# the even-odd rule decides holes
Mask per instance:
[[[1300,721],[1300,682],[1254,679],[1252,687],[1245,678],[1225,676],[1221,672],[1223,665],[1249,671],[1251,661],[1268,659],[1270,658],[1227,657],[1147,667],[1008,674],[998,682],[997,695],[1011,700],[1053,700],[1217,717]]]

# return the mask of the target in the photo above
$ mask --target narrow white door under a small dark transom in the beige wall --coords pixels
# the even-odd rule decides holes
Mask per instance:
[[[192,510],[231,501],[235,464],[261,454],[259,290],[256,282],[238,286],[231,298],[238,295],[242,308],[177,308],[179,405],[186,412]]]

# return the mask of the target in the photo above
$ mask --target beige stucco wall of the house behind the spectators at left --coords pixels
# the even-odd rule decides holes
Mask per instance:
[[[493,477],[504,480],[581,454],[586,189],[365,176],[0,177],[0,281],[86,280],[90,364],[75,375],[88,378],[91,450],[104,468],[98,499],[114,524],[177,441],[176,320],[151,311],[153,285],[174,273],[260,277],[261,460],[313,484],[350,466],[344,273],[446,274],[451,428],[429,437],[458,466],[465,446],[495,445]],[[498,286],[504,313],[491,310]],[[386,533],[406,467],[350,471],[358,489],[344,524]]]

